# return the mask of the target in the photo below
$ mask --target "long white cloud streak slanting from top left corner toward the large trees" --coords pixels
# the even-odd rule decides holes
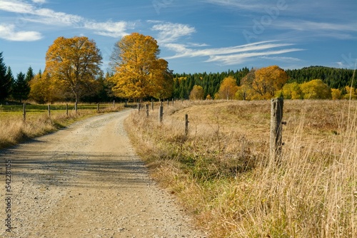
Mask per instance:
[[[37,6],[38,4],[44,4],[45,2],[46,1],[43,0],[35,0],[32,1],[32,3],[0,0],[0,11],[18,14],[17,18],[21,19],[21,21],[35,22],[50,26],[70,26],[77,29],[91,30],[101,36],[116,38],[127,35],[128,33],[126,31],[134,27],[134,24],[127,21],[97,22],[82,16],[66,14],[64,12]],[[21,41],[23,38],[21,36],[22,33],[24,32],[19,31],[16,35],[18,38],[13,38],[13,40]]]

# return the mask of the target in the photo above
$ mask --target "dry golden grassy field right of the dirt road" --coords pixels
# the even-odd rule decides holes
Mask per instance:
[[[211,237],[357,237],[357,101],[285,100],[280,166],[270,113],[270,101],[176,102],[161,125],[156,109],[126,128]]]

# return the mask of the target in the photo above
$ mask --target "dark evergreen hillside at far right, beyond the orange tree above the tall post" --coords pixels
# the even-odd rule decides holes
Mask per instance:
[[[329,68],[323,66],[310,66],[301,69],[286,70],[289,76],[288,83],[303,83],[313,79],[321,79],[330,88],[344,88],[351,86],[351,79],[353,76],[352,69],[344,68]],[[353,87],[356,88],[356,81]]]

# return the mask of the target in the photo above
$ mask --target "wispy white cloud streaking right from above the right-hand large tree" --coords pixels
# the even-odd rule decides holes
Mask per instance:
[[[158,38],[161,46],[175,53],[173,56],[166,56],[166,59],[207,57],[205,62],[233,65],[251,60],[251,58],[303,51],[301,48],[293,48],[293,43],[281,43],[280,41],[261,41],[241,46],[208,48],[206,43],[181,43],[181,38],[196,32],[191,26],[158,22],[154,22],[154,24],[151,29],[159,31]]]

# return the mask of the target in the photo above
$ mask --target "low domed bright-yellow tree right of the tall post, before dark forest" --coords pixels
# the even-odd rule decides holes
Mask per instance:
[[[314,79],[302,83],[301,92],[304,99],[329,99],[331,98],[331,89],[321,79]]]

